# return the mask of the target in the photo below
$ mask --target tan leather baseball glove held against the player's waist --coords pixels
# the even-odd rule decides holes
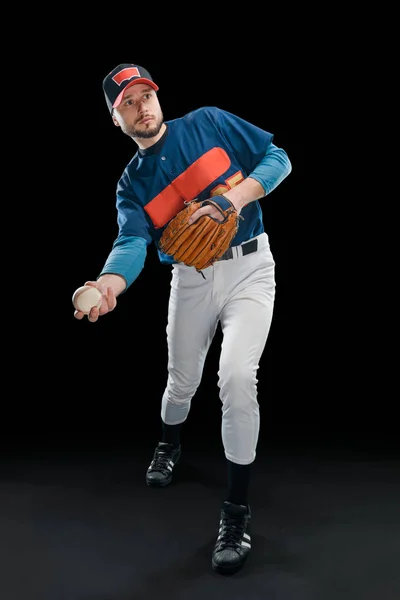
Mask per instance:
[[[221,204],[228,203],[228,207],[222,208],[217,202],[218,198],[223,198],[223,201],[220,200]],[[238,230],[239,219],[243,217],[232,202],[221,195],[203,201],[195,199],[185,204],[185,208],[171,219],[163,231],[159,249],[164,254],[173,256],[176,262],[201,271],[210,267],[226,252]],[[223,220],[218,221],[209,215],[203,215],[189,225],[190,216],[206,204],[215,206]]]

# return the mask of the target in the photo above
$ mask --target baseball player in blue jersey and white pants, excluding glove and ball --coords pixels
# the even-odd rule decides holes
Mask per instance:
[[[132,138],[137,151],[117,183],[118,236],[98,278],[86,282],[103,293],[100,308],[92,308],[87,318],[95,322],[115,309],[154,243],[160,262],[171,269],[168,377],[160,439],[146,472],[147,484],[154,487],[172,480],[181,456],[180,430],[220,324],[218,388],[227,492],[216,522],[212,568],[234,573],[251,549],[248,492],[260,422],[257,370],[275,299],[275,262],[259,201],[290,174],[291,162],[273,143],[273,134],[217,107],[164,121],[158,86],[139,65],[115,67],[104,78],[103,91],[114,125]],[[221,206],[229,200],[241,216],[229,250],[201,272],[158,246],[167,223],[195,198],[213,198]],[[201,206],[193,222],[204,215],[221,220],[211,204]],[[75,310],[74,316],[85,315]]]

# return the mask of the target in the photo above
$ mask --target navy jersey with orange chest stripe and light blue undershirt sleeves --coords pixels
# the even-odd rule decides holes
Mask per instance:
[[[165,124],[163,137],[138,150],[117,185],[119,233],[101,275],[120,274],[127,285],[143,268],[152,242],[161,263],[174,262],[159,250],[158,241],[185,202],[223,194],[249,175],[267,194],[291,170],[286,153],[272,143],[272,133],[222,109],[199,108]],[[263,165],[266,157],[269,162]],[[240,214],[233,246],[264,232],[259,201]]]

